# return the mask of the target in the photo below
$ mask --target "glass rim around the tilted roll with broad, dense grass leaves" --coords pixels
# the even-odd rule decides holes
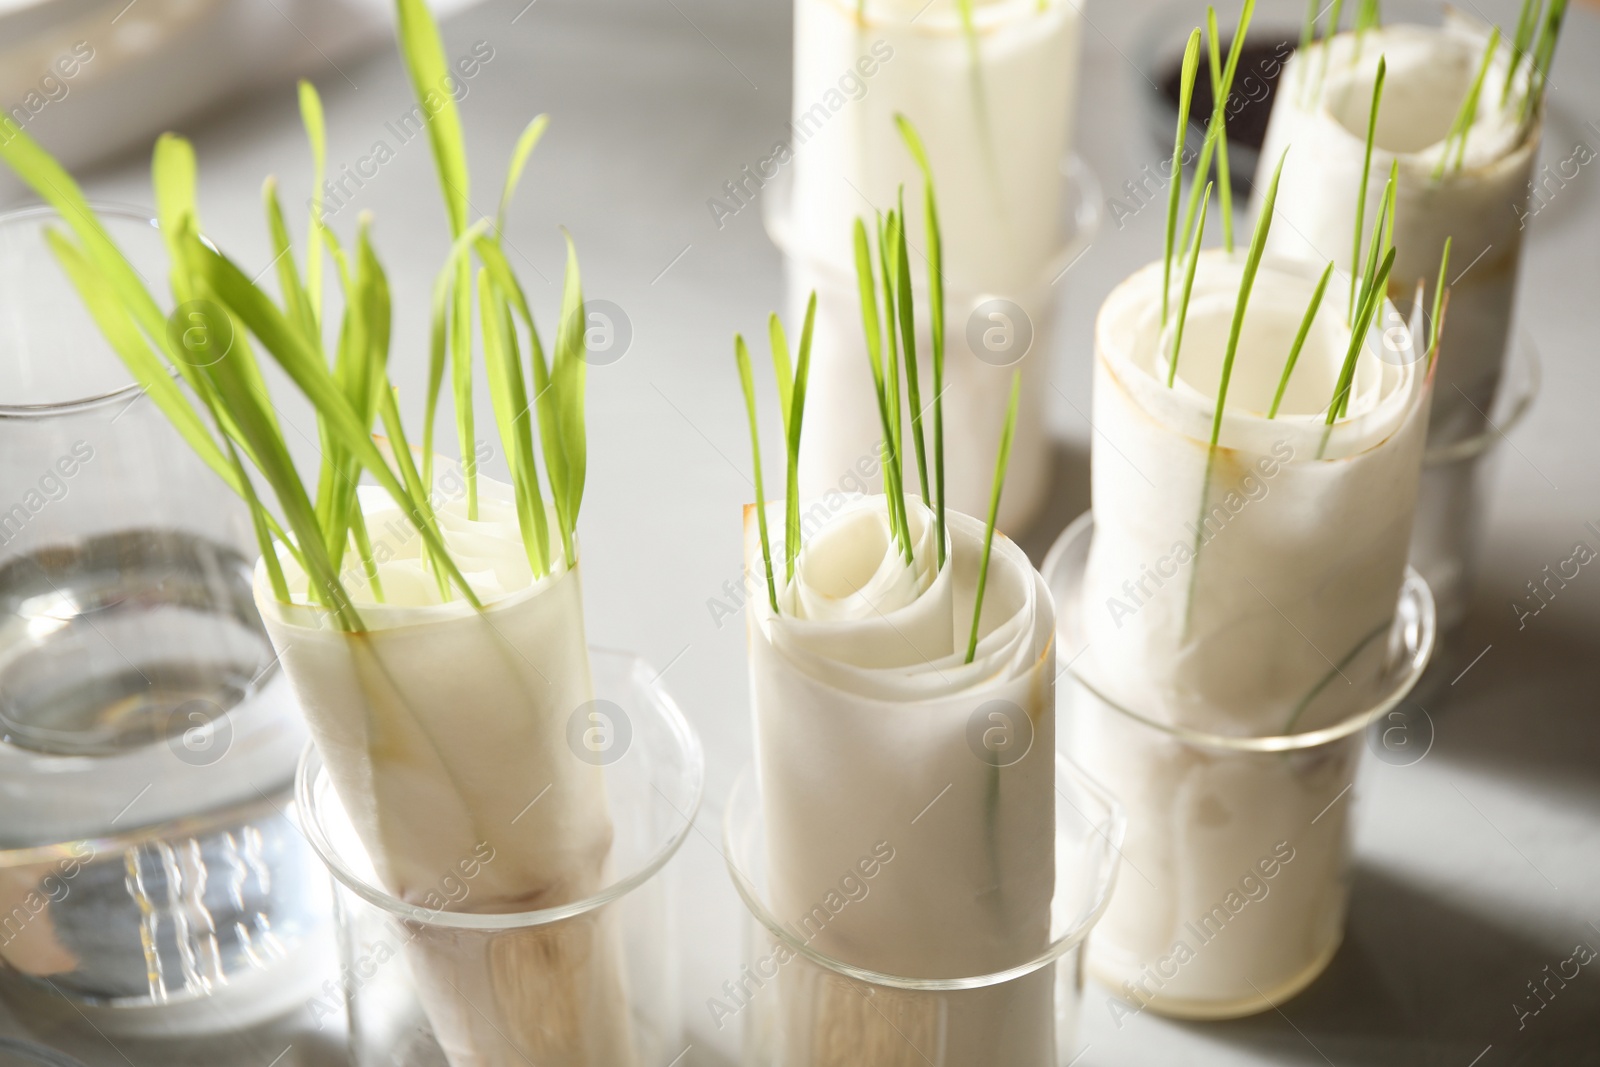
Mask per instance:
[[[598,893],[592,893],[581,901],[573,901],[570,904],[560,904],[557,907],[534,909],[531,912],[450,912],[445,909],[422,907],[421,904],[411,904],[394,896],[387,889],[382,889],[365,877],[350,869],[334,848],[333,841],[328,838],[326,830],[322,825],[322,817],[317,814],[317,798],[314,787],[323,777],[325,768],[322,763],[322,755],[317,752],[315,744],[307,744],[306,750],[299,758],[299,769],[294,773],[294,805],[299,811],[299,827],[306,835],[306,841],[310,843],[312,851],[323,862],[339,885],[362,897],[373,907],[378,907],[395,918],[421,923],[427,926],[448,926],[453,929],[477,929],[483,933],[494,933],[502,929],[522,929],[528,926],[547,926],[550,923],[558,923],[568,918],[576,918],[587,912],[594,912],[606,904],[613,904],[634,889],[638,889],[646,881],[654,878],[661,870],[677,856],[678,848],[688,840],[690,830],[694,829],[694,819],[699,814],[701,801],[706,793],[706,753],[701,749],[699,737],[690,726],[688,718],[683,717],[683,710],[678,709],[677,701],[653,678],[648,664],[632,654],[613,648],[589,646],[590,657],[605,656],[624,659],[629,664],[629,672],[634,678],[642,678],[640,688],[650,694],[650,707],[666,725],[672,739],[677,742],[678,750],[685,757],[683,766],[693,781],[694,798],[688,806],[688,811],[678,811],[683,817],[683,825],[677,827],[656,851],[629,872],[626,877],[611,881]],[[637,742],[637,736],[635,736]],[[672,803],[670,800],[667,801]],[[677,809],[674,806],[674,809]]]

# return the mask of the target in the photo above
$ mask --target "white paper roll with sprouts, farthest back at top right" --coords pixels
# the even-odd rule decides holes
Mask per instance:
[[[1448,330],[1430,421],[1432,440],[1443,443],[1488,429],[1542,131],[1542,104],[1523,115],[1531,62],[1522,64],[1510,93],[1502,94],[1512,56],[1506,42],[1490,59],[1464,150],[1448,138],[1488,43],[1488,26],[1451,14],[1443,26],[1384,26],[1304,48],[1285,67],[1262,147],[1262,158],[1277,158],[1293,146],[1269,250],[1318,267],[1333,259],[1350,270],[1373,83],[1384,59],[1363,219],[1370,230],[1384,178],[1398,163],[1390,277],[1403,291],[1395,302],[1406,317],[1418,280],[1427,282],[1426,306],[1432,306],[1445,238],[1451,238]],[[1347,294],[1349,288],[1330,291],[1341,306]]]

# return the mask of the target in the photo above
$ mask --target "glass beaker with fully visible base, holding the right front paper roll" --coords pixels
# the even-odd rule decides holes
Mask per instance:
[[[1090,974],[1123,998],[1112,1006],[1118,1024],[1146,1008],[1182,1019],[1267,1011],[1339,949],[1365,731],[1427,667],[1432,595],[1406,574],[1371,707],[1294,734],[1206,734],[1122,707],[1072,670],[1085,651],[1078,601],[1093,534],[1085,512],[1042,569],[1072,675],[1058,688],[1061,747],[1128,813],[1126,870],[1090,939]]]

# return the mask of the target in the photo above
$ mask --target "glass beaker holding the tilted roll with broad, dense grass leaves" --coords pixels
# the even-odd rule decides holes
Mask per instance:
[[[582,901],[450,910],[493,854],[466,857],[438,907],[394,897],[306,750],[301,822],[333,875],[341,958],[312,1014],[349,1025],[355,1067],[651,1067],[683,1051],[666,865],[699,809],[704,758],[654,669],[605,649],[590,649],[590,665],[595,701],[626,741],[603,763],[606,883]]]

